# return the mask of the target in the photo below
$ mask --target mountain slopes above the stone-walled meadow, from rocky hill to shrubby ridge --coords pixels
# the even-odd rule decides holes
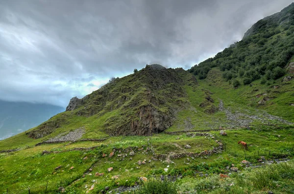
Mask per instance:
[[[26,134],[34,139],[49,139],[70,130],[85,129],[83,137],[87,138],[151,135],[172,130],[174,122],[191,123],[191,126],[198,122],[197,128],[212,129],[269,122],[266,114],[281,117],[271,120],[293,122],[293,116],[285,112],[291,111],[294,103],[291,98],[293,24],[294,3],[258,21],[243,40],[188,71],[147,65],[134,74],[113,79],[82,99],[74,97],[66,112]],[[199,86],[199,83],[202,84]],[[222,91],[227,93],[223,95]],[[226,102],[228,98],[230,102]],[[261,116],[256,121],[238,123],[228,114],[221,114],[219,106],[223,103],[224,106],[231,104],[229,108],[235,107],[238,111],[255,108],[266,112],[251,112],[251,116]],[[181,117],[185,111],[189,112],[188,118]],[[250,117],[250,114],[242,114]],[[199,125],[203,118],[208,121]]]

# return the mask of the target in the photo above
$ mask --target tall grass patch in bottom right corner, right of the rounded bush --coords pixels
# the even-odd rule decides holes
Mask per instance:
[[[230,178],[221,179],[213,175],[196,181],[197,193],[248,194],[294,193],[294,162],[267,165],[247,172],[233,173]]]

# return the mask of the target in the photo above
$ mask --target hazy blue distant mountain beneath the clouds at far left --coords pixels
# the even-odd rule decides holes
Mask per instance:
[[[0,139],[36,127],[64,110],[53,105],[1,100],[0,109]]]

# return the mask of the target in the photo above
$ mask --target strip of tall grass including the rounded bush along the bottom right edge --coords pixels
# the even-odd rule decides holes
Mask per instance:
[[[177,183],[149,180],[132,194],[275,194],[294,193],[294,161],[272,164],[245,172],[232,173],[229,178],[219,174],[202,179],[185,177]]]

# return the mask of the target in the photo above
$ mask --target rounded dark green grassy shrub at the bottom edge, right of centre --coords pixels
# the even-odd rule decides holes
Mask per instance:
[[[177,194],[177,185],[170,181],[149,180],[132,194]]]

